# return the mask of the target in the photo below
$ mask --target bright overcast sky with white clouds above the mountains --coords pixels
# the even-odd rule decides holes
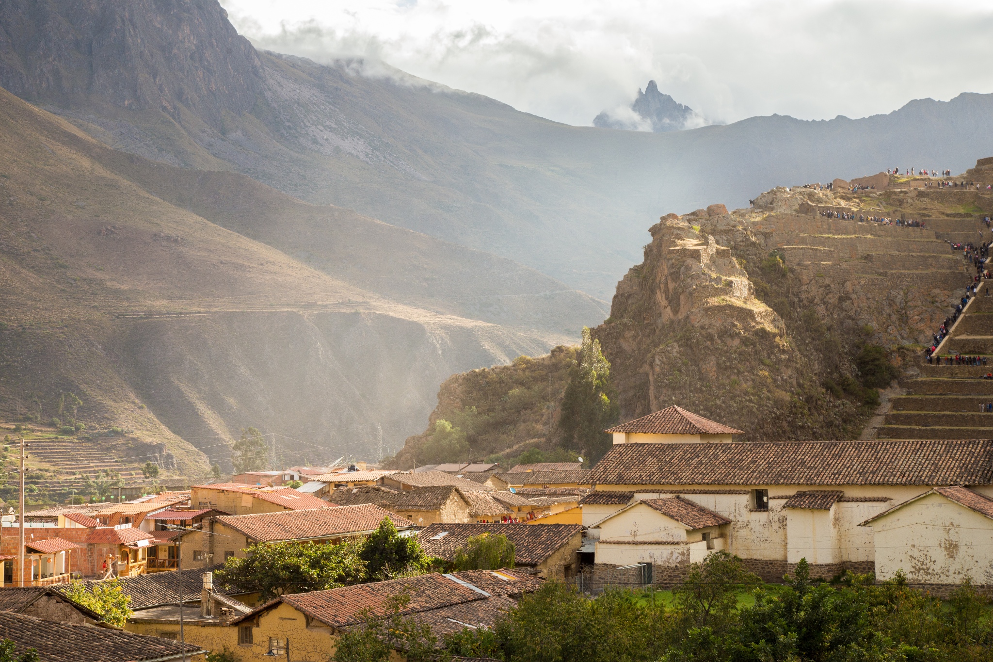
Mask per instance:
[[[648,79],[708,118],[993,91],[993,0],[221,0],[257,47],[361,56],[588,125]]]

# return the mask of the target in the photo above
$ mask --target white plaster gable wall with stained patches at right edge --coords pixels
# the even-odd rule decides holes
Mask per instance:
[[[993,520],[929,494],[872,523],[876,575],[922,584],[993,584]]]

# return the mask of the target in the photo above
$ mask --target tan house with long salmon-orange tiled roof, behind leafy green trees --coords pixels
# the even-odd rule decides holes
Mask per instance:
[[[414,525],[406,519],[371,503],[361,505],[285,510],[252,515],[215,517],[204,531],[191,531],[181,545],[184,568],[207,568],[235,557],[243,559],[255,543],[285,541],[314,542],[321,545],[363,540],[383,519],[393,522],[397,531]]]

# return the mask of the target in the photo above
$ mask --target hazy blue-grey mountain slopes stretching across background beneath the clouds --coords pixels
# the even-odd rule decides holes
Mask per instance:
[[[213,0],[33,7],[0,10],[0,84],[105,144],[240,172],[603,300],[638,261],[659,207],[741,206],[782,183],[894,166],[961,172],[993,152],[993,95],[863,119],[571,127],[387,66],[256,52]]]

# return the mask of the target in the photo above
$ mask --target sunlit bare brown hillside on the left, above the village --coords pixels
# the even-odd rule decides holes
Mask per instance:
[[[239,175],[114,152],[3,90],[0,144],[0,415],[47,422],[74,393],[83,403],[74,418],[94,443],[124,431],[126,448],[102,444],[108,456],[168,450],[177,464],[167,477],[226,464],[225,442],[249,425],[281,433],[277,450],[290,462],[328,460],[328,448],[374,453],[414,432],[448,375],[569,337],[398,303],[372,291],[375,279],[350,282],[348,266],[322,271],[207,216],[255,227],[286,250],[300,241],[328,262],[369,234],[381,241],[372,247],[382,278],[410,288],[427,275],[489,294],[502,273],[490,264],[526,271]],[[212,205],[229,199],[252,209],[224,217]],[[345,248],[333,246],[335,213],[353,232],[337,228]],[[325,219],[327,233],[295,235],[307,214]],[[447,259],[423,266],[418,246]],[[536,319],[507,311],[521,326]]]

